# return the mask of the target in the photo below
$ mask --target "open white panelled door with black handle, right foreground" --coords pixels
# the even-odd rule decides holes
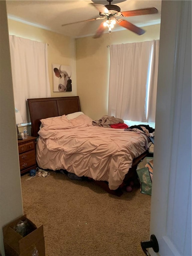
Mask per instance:
[[[162,1],[154,146],[149,253],[191,256],[191,1]]]

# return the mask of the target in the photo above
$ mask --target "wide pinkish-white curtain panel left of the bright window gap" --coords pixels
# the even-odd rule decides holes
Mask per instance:
[[[110,46],[108,115],[147,122],[154,41]]]

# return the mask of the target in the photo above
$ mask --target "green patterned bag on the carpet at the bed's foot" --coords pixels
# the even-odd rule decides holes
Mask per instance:
[[[140,181],[140,191],[151,195],[153,178],[153,157],[145,157],[137,166],[137,176]]]

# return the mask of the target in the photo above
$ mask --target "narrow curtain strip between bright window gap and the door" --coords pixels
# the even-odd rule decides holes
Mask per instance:
[[[155,123],[156,97],[157,97],[157,79],[159,62],[159,40],[153,40],[152,44],[152,65],[149,81],[149,104],[147,122]]]

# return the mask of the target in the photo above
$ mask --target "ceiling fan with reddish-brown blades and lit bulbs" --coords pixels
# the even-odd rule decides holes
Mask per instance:
[[[137,35],[143,35],[145,33],[145,30],[135,26],[134,24],[130,23],[127,20],[116,19],[116,17],[131,17],[131,16],[137,16],[137,15],[158,13],[158,10],[155,7],[137,9],[137,10],[133,10],[133,11],[121,11],[119,6],[111,4],[111,2],[113,2],[113,0],[107,0],[107,2],[109,2],[109,5],[103,5],[100,3],[91,3],[90,4],[90,5],[94,6],[99,11],[100,17],[97,17],[94,19],[89,19],[89,20],[79,21],[79,22],[84,22],[84,21],[105,19],[105,21],[102,22],[100,24],[100,26],[98,27],[93,38],[99,38],[103,34],[106,27],[108,27],[108,31],[110,33],[112,31],[112,28],[114,27],[114,24],[116,24],[116,23],[126,29],[131,30],[132,32],[136,33]],[[63,24],[61,26],[66,26],[66,25],[79,23],[79,22],[67,23],[67,24]]]

